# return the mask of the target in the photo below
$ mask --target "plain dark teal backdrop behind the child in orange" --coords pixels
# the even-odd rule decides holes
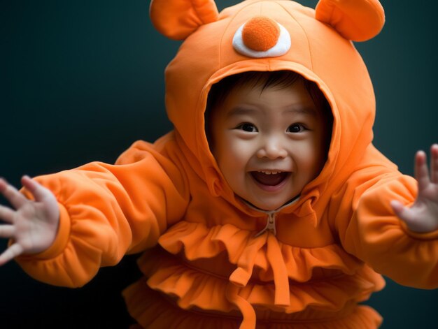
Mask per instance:
[[[381,2],[386,27],[357,44],[376,89],[374,143],[412,174],[416,149],[438,142],[437,7]],[[179,43],[153,29],[148,1],[3,0],[0,36],[0,175],[15,186],[22,174],[113,162],[134,140],[171,129],[163,71]],[[0,268],[0,328],[127,328],[120,290],[136,277],[132,256],[80,289],[41,284],[9,263]],[[382,328],[438,328],[437,290],[388,280],[369,304]]]

